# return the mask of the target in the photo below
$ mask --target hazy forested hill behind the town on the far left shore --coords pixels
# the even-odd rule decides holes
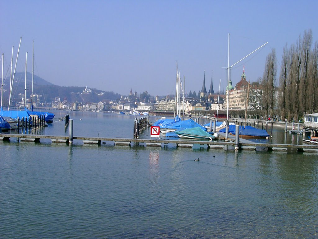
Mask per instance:
[[[27,72],[27,97],[31,96],[31,85],[32,85],[32,74]],[[85,86],[59,86],[54,85],[48,81],[45,81],[41,77],[34,75],[33,81],[33,93],[43,96],[43,102],[49,103],[54,101],[55,97],[59,97],[62,101],[64,98],[68,102],[100,102],[103,100],[115,100],[120,98],[120,95],[114,92],[101,91],[97,89],[92,89],[92,93],[83,94]],[[24,95],[24,83],[25,83],[25,72],[17,72],[15,74],[15,79],[12,87],[12,100],[21,101],[20,93]],[[89,87],[89,86],[87,86]],[[9,99],[9,88],[10,88],[10,76],[6,77],[3,83],[3,101],[8,101]],[[100,93],[103,92],[103,95]]]

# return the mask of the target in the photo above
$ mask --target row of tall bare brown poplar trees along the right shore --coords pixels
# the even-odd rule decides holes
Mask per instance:
[[[263,110],[282,120],[300,120],[303,114],[318,112],[318,42],[313,45],[311,30],[305,30],[295,44],[285,45],[277,82],[276,50],[266,57]]]

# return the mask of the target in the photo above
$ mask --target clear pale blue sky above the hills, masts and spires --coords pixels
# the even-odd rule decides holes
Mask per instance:
[[[308,29],[317,34],[317,1],[17,1],[0,2],[0,53],[5,68],[22,38],[17,71],[32,71],[61,86],[86,86],[127,95],[173,94],[176,62],[185,91],[226,87],[230,65],[268,44],[231,71],[235,85],[245,65],[247,80],[263,75],[266,56]],[[15,60],[14,60],[15,62]],[[280,66],[278,65],[278,69]]]

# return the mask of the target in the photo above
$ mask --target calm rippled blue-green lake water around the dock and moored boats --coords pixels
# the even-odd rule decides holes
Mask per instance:
[[[133,135],[134,116],[71,118],[74,136]],[[283,130],[269,141],[297,143]],[[40,133],[68,130],[56,121]],[[318,236],[316,153],[14,140],[0,153],[1,238]]]

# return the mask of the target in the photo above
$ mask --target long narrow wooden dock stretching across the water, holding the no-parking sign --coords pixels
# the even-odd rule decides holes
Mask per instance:
[[[194,145],[200,145],[204,147],[214,149],[233,149],[235,142],[231,138],[226,142],[225,140],[219,141],[197,141],[197,140],[157,140],[157,139],[133,139],[133,138],[100,138],[100,137],[82,137],[74,136],[73,140],[82,141],[83,144],[96,144],[100,145],[102,142],[112,141],[114,145],[128,145],[131,143],[144,144],[146,146],[162,147],[168,144],[175,145],[176,147],[192,148]],[[52,143],[69,143],[68,136],[56,136],[56,135],[41,135],[41,134],[0,134],[0,140],[10,141],[10,138],[16,138],[18,141],[33,141],[41,142],[41,139],[50,139]],[[228,147],[230,146],[230,147]],[[301,152],[318,152],[318,145],[294,145],[294,144],[271,144],[271,143],[255,143],[252,141],[239,139],[239,149],[256,150],[256,147],[261,149],[267,148],[267,150],[273,151],[287,151],[287,149],[296,149]]]

